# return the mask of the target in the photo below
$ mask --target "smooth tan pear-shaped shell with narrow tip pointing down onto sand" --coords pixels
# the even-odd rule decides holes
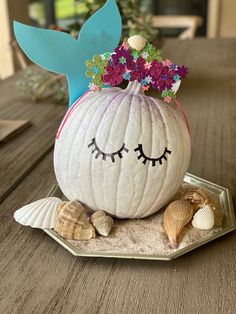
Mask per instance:
[[[173,249],[178,247],[179,236],[193,217],[193,207],[185,200],[169,204],[164,212],[163,225]]]

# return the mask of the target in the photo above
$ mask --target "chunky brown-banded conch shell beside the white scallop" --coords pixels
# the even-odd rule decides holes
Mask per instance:
[[[95,237],[95,229],[78,201],[63,202],[58,206],[54,230],[68,240],[90,240]]]

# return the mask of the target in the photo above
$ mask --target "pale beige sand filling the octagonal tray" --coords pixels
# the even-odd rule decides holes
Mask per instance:
[[[178,199],[191,188],[193,186],[183,183],[174,199]],[[172,249],[163,229],[163,212],[164,210],[161,210],[144,219],[114,219],[114,227],[108,237],[97,236],[89,241],[69,240],[68,242],[85,252],[165,256],[209,237],[221,229],[217,227],[211,230],[199,230],[189,224],[182,234],[179,247]]]

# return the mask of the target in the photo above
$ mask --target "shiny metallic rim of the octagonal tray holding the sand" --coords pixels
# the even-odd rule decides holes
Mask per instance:
[[[199,177],[196,177],[192,174],[187,173],[184,182],[201,187],[209,192],[213,193],[220,201],[222,211],[224,212],[224,221],[222,228],[215,232],[213,235],[204,237],[184,248],[178,249],[169,255],[144,255],[144,254],[122,254],[122,253],[109,253],[109,252],[88,252],[83,251],[67,240],[60,237],[55,231],[44,229],[44,231],[67,249],[70,253],[75,256],[87,256],[87,257],[113,257],[113,258],[127,258],[127,259],[145,259],[145,260],[165,260],[169,261],[175,259],[183,254],[186,254],[199,246],[202,246],[216,238],[223,236],[226,233],[229,233],[236,229],[235,215],[232,203],[232,197],[227,188],[216,185]],[[63,193],[61,192],[58,185],[54,185],[49,192],[48,196],[55,196],[61,199],[66,199]]]

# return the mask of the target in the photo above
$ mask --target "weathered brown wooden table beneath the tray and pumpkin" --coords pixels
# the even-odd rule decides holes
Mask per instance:
[[[179,91],[192,128],[189,171],[236,198],[236,40],[169,40],[163,54],[189,66]],[[0,147],[0,313],[235,313],[236,233],[171,262],[76,258],[14,211],[55,182],[52,147],[66,107],[20,98],[0,84],[2,119],[33,127]]]

